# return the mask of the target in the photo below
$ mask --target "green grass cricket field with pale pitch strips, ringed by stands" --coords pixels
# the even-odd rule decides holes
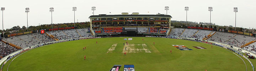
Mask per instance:
[[[123,45],[126,42],[128,45]],[[173,45],[192,50],[180,50]],[[242,59],[247,71],[252,71],[249,62]],[[3,71],[7,71],[10,61]],[[123,65],[128,64],[134,65],[136,71],[246,71],[244,62],[229,50],[189,40],[153,37],[96,38],[50,44],[18,56],[11,62],[9,71],[109,71],[113,65],[122,65],[119,70],[122,71]]]

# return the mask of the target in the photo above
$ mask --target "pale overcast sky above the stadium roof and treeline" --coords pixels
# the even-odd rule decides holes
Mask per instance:
[[[53,23],[90,21],[91,7],[95,6],[95,15],[119,15],[122,12],[140,14],[166,14],[164,6],[169,6],[171,20],[186,21],[185,6],[189,7],[188,21],[210,22],[208,7],[213,7],[212,23],[221,26],[235,26],[233,7],[238,7],[236,27],[256,28],[256,0],[2,0],[0,7],[5,7],[4,29],[13,26],[27,27],[25,8],[29,7],[28,26],[51,23],[50,7],[54,7]],[[111,12],[111,13],[110,13]],[[2,11],[0,16],[2,16]],[[2,24],[2,17],[0,23]],[[0,25],[2,29],[2,25]]]

